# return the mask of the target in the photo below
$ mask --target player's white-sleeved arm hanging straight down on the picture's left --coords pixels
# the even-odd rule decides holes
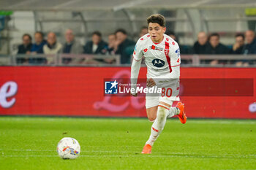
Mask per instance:
[[[140,39],[135,45],[135,50],[132,55],[132,66],[131,66],[131,88],[136,89],[137,85],[137,80],[138,80],[138,75],[140,72],[140,64],[141,60],[143,58],[143,47],[141,45]],[[137,96],[137,93],[131,93],[132,96]]]

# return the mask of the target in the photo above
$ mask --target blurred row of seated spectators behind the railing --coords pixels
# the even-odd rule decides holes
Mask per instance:
[[[140,36],[148,33],[147,26],[143,26],[140,29]],[[166,34],[172,37],[176,42],[178,36],[173,31],[167,31]],[[135,41],[129,39],[127,31],[119,28],[113,34],[108,35],[108,42],[102,39],[100,31],[94,31],[91,34],[91,39],[86,42],[86,45],[82,45],[80,42],[75,40],[75,35],[72,29],[67,29],[64,32],[65,42],[60,43],[54,32],[49,32],[45,36],[42,32],[37,31],[33,38],[30,34],[23,34],[22,44],[18,45],[18,54],[101,54],[101,55],[121,55],[121,63],[130,63],[130,55],[135,47]],[[34,41],[33,41],[34,39]],[[206,54],[206,55],[223,55],[223,54],[256,54],[256,36],[255,31],[248,30],[245,33],[238,33],[234,36],[233,45],[224,45],[221,42],[221,37],[218,33],[206,34],[204,31],[200,31],[197,34],[197,41],[194,45],[180,45],[181,54]],[[47,63],[47,59],[24,59],[18,58],[18,63]],[[72,58],[64,58],[64,63],[69,62],[81,62],[78,60],[72,60]],[[97,60],[95,60],[97,62]],[[102,62],[113,63],[113,60],[103,59]],[[211,65],[216,63],[223,63],[224,61],[209,60],[204,61]],[[241,61],[233,61],[236,65],[247,66],[253,61],[246,61],[241,58]]]

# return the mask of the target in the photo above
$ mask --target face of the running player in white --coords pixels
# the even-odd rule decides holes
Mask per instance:
[[[159,25],[159,23],[149,23],[148,33],[153,42],[162,42],[166,28]]]

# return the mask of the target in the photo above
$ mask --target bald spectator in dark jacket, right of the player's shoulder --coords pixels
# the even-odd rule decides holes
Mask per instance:
[[[206,32],[199,32],[197,34],[197,41],[193,46],[193,53],[206,54],[206,47],[209,45]]]

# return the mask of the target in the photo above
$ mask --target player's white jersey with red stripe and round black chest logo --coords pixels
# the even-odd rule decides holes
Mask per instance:
[[[140,37],[135,46],[133,58],[135,61],[140,61],[143,56],[145,57],[148,78],[170,74],[173,67],[179,67],[181,64],[178,43],[166,34],[164,34],[162,42],[158,44],[152,42],[149,34]],[[179,68],[175,74],[176,77],[179,77]]]

